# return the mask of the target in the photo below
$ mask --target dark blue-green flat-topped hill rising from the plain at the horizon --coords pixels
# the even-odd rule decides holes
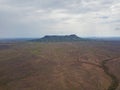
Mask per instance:
[[[39,42],[64,42],[64,41],[68,41],[68,42],[71,42],[71,41],[81,41],[81,40],[84,40],[83,38],[80,38],[78,37],[77,35],[47,35],[47,36],[44,36],[40,39],[35,39],[35,40],[32,40],[32,41],[39,41]]]

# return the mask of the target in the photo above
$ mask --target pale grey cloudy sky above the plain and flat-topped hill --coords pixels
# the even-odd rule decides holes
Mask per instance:
[[[0,38],[120,37],[120,0],[0,0]]]

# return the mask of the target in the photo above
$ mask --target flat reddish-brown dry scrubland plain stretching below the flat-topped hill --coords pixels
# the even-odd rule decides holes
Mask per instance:
[[[0,44],[0,90],[120,90],[119,80],[120,42]]]

